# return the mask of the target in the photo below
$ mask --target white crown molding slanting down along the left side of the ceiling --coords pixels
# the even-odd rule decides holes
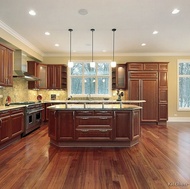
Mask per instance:
[[[40,54],[41,56],[44,56],[44,53],[36,48],[32,43],[30,43],[27,39],[22,37],[20,34],[18,34],[16,31],[14,31],[11,27],[6,25],[4,22],[0,20],[0,28],[9,33],[11,36],[18,39],[20,42],[22,42],[24,45],[28,46],[30,49],[35,51],[36,53]]]

